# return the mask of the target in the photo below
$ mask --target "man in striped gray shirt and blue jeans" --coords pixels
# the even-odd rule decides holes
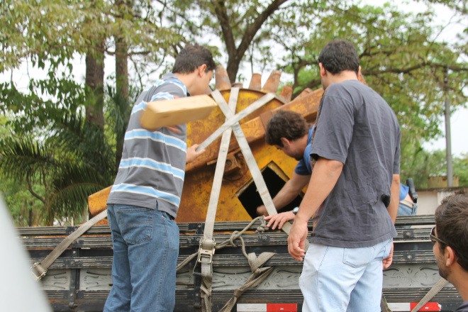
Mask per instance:
[[[186,125],[145,130],[146,103],[204,94],[216,65],[211,52],[187,45],[172,74],[147,87],[133,107],[116,181],[108,196],[113,241],[112,289],[104,311],[173,311],[179,254],[180,204],[186,162]]]

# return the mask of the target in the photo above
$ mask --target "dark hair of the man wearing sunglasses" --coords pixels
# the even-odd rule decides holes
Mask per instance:
[[[458,257],[458,264],[468,271],[468,195],[464,191],[445,197],[435,209],[438,238],[445,241]],[[439,244],[443,252],[447,247]]]

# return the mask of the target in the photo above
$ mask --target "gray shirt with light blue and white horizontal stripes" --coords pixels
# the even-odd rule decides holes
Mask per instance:
[[[150,101],[188,96],[175,74],[165,74],[138,96],[128,122],[121,163],[107,204],[156,208],[176,218],[185,177],[186,125],[182,133],[167,128],[148,131],[140,125],[140,113]]]

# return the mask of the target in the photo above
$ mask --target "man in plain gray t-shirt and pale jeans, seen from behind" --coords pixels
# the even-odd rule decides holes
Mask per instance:
[[[325,93],[313,170],[288,238],[291,256],[304,258],[303,311],[380,311],[382,267],[391,264],[396,236],[401,130],[386,101],[357,79],[351,43],[333,40],[318,59]]]

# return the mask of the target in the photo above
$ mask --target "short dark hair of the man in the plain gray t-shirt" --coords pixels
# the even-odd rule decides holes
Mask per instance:
[[[355,46],[347,40],[330,41],[318,55],[318,62],[331,74],[344,70],[352,70],[356,74],[359,72],[359,55]]]

